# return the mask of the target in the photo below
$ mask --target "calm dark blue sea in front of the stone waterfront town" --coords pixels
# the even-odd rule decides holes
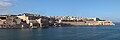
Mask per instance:
[[[0,40],[120,40],[120,23],[115,26],[0,29]]]

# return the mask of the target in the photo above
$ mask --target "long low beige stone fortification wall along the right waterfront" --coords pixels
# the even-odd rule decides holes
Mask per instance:
[[[109,23],[110,22],[110,23]],[[111,21],[61,22],[70,25],[114,25]]]

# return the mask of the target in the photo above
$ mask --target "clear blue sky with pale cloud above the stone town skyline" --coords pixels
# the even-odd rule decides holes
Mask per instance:
[[[120,21],[120,0],[0,0],[0,14],[35,13]]]

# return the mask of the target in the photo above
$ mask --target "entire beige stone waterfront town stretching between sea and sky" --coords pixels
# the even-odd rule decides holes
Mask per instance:
[[[42,16],[23,13],[0,15],[0,28],[42,28],[52,26],[115,25],[110,20],[83,18],[78,16]]]

